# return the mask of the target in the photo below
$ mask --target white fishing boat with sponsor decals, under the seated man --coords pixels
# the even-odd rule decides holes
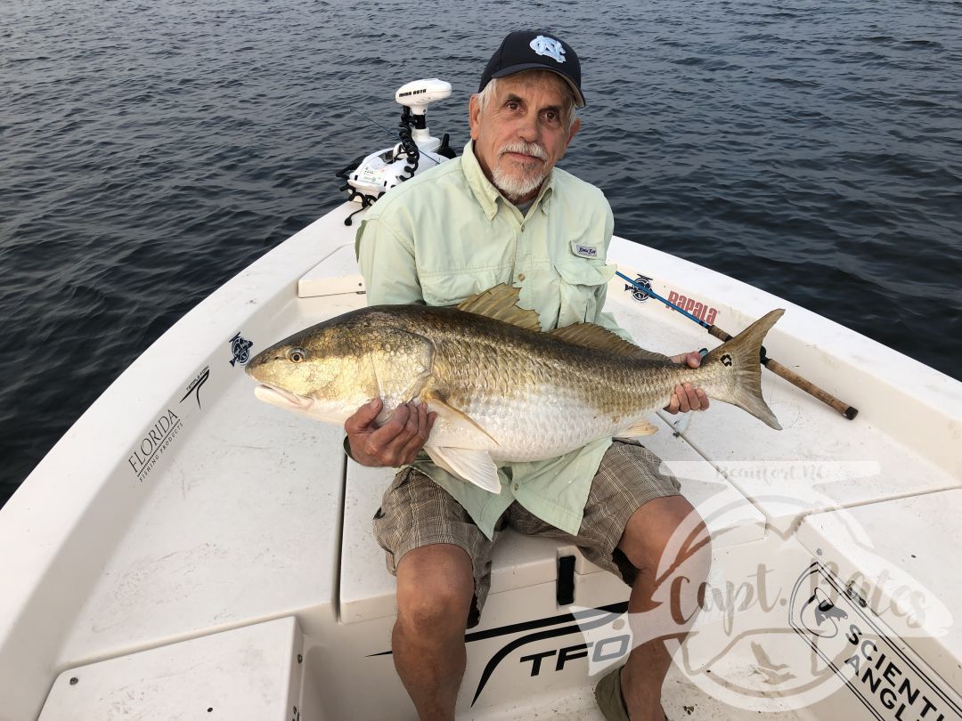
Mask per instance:
[[[365,304],[344,225],[358,209],[190,311],[0,510],[0,719],[415,718],[370,529],[392,470],[346,460],[341,429],[259,403],[242,367]],[[721,403],[655,419],[646,445],[713,535],[669,717],[962,718],[962,384],[624,238],[609,261],[732,334],[787,309],[769,356],[860,410],[848,420],[766,372],[780,433]],[[653,350],[717,342],[618,277],[608,309]],[[594,684],[633,642],[627,595],[575,548],[506,532],[459,718],[601,718]]]

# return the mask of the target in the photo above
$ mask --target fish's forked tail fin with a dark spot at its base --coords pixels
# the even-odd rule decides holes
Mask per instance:
[[[742,410],[747,410],[776,431],[781,431],[781,426],[772,409],[762,398],[760,354],[765,335],[784,312],[777,310],[766,313],[738,336],[725,341],[711,351],[702,361],[703,366],[710,362],[718,362],[727,369],[724,374],[723,388],[716,391],[715,397]],[[709,395],[712,394],[709,393]]]

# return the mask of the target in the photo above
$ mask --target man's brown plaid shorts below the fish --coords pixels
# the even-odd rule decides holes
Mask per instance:
[[[497,531],[511,527],[524,535],[568,541],[586,559],[631,585],[637,570],[618,548],[628,519],[648,501],[680,494],[681,484],[662,473],[660,466],[661,460],[641,444],[615,440],[598,465],[578,535],[545,523],[515,502],[499,519],[495,539]],[[477,625],[491,587],[494,541],[481,533],[468,511],[447,491],[414,468],[403,469],[394,476],[374,514],[374,536],[387,553],[392,575],[396,575],[400,559],[421,546],[449,543],[463,548],[474,573],[468,628]]]

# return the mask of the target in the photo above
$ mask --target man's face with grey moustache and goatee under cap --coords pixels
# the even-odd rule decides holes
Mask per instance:
[[[482,112],[471,97],[469,117],[474,155],[488,179],[513,203],[538,194],[554,164],[565,156],[581,121],[565,127],[564,81],[524,83],[524,73],[497,82]]]

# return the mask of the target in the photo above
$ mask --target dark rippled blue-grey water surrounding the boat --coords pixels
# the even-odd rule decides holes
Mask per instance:
[[[962,3],[0,3],[0,501],[155,338],[338,204],[393,90],[582,58],[616,232],[962,377]]]

